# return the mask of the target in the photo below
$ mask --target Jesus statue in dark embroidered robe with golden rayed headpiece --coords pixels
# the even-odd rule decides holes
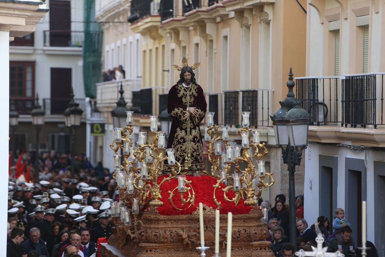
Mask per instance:
[[[190,67],[186,57],[183,57],[182,64],[183,67],[175,64],[171,66],[181,73],[179,81],[168,94],[167,110],[172,123],[167,148],[174,148],[175,159],[181,163],[182,171],[199,172],[204,170],[199,123],[206,115],[207,103],[194,74],[200,62]]]

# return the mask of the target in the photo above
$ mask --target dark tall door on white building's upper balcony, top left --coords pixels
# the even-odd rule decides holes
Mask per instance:
[[[71,45],[71,2],[50,0],[50,46]]]

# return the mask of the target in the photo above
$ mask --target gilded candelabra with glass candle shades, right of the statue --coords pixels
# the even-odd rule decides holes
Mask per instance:
[[[213,115],[214,114],[211,114],[211,117],[208,118],[208,123],[212,121]],[[237,205],[240,198],[243,198],[245,205],[253,206],[258,203],[257,199],[261,197],[262,188],[267,190],[269,186],[274,184],[273,173],[266,172],[264,169],[264,160],[260,160],[268,151],[265,143],[259,142],[259,131],[252,131],[249,128],[249,115],[250,112],[242,112],[242,128],[238,129],[238,134],[242,137],[242,146],[229,146],[227,127],[222,128],[222,138],[218,137],[218,126],[204,127],[204,138],[208,146],[206,154],[208,154],[209,161],[213,165],[211,168],[211,176],[218,176],[215,175],[217,170],[220,173],[219,180],[214,185],[213,195],[214,202],[218,208],[221,208],[221,203],[218,202],[215,196],[218,188],[224,191],[224,199],[226,201],[234,202],[235,205]],[[250,132],[253,134],[253,141],[251,143]],[[225,138],[226,141],[224,141],[223,138]],[[221,152],[221,141],[223,141],[226,147],[225,154]],[[223,171],[219,169],[220,157],[222,158],[222,163],[225,163],[223,165]],[[254,158],[257,159],[258,168],[253,164]],[[244,170],[241,170],[239,167],[241,162],[247,164],[247,168]],[[235,165],[235,173],[230,175],[231,165],[233,163]],[[231,183],[227,183],[231,178],[233,179],[232,185]],[[223,188],[223,184],[225,183],[227,183],[227,186]],[[234,192],[234,197],[231,199],[226,195],[229,190]]]

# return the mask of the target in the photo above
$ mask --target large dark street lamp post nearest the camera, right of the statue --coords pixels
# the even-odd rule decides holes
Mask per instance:
[[[295,217],[295,166],[300,165],[302,151],[307,147],[308,127],[310,115],[301,108],[301,100],[294,96],[293,73],[289,75],[289,81],[286,83],[288,94],[283,102],[280,101],[281,108],[273,116],[276,144],[282,149],[283,163],[288,165],[289,171],[289,231],[290,243],[296,248],[296,217]]]

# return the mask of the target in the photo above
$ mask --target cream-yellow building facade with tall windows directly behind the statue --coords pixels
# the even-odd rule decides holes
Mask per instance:
[[[114,8],[123,13],[110,18],[112,24],[105,25],[104,45],[109,46],[109,52],[104,52],[104,61],[123,60],[107,56],[111,54],[112,44],[116,54],[117,40],[122,40],[117,37],[137,39],[134,43],[140,45],[126,53],[127,59],[134,59],[130,62],[134,67],[127,67],[126,74],[133,69],[137,76],[126,76],[126,81],[139,79],[141,92],[151,89],[153,115],[159,115],[165,108],[166,94],[179,80],[179,72],[171,69],[171,65],[181,66],[182,57],[187,57],[190,64],[201,62],[194,72],[206,93],[208,111],[216,112],[215,123],[231,126],[230,137],[239,139],[236,126],[240,124],[240,112],[254,113],[252,126],[261,130],[261,141],[269,146],[266,160],[271,171],[277,172],[275,180],[279,185],[263,197],[271,195],[273,199],[278,193],[286,194],[288,179],[283,174],[286,165],[281,162],[281,150],[275,146],[269,115],[280,108],[278,101],[287,94],[290,67],[295,76],[305,76],[306,0],[120,2]],[[105,9],[100,8],[102,13]],[[129,23],[114,23],[119,20]],[[139,104],[135,96],[136,93],[132,94],[133,99],[125,96],[127,106]],[[143,123],[148,124],[146,115],[138,118],[142,127]],[[303,192],[302,166],[296,176],[301,185],[297,187],[298,194]]]

